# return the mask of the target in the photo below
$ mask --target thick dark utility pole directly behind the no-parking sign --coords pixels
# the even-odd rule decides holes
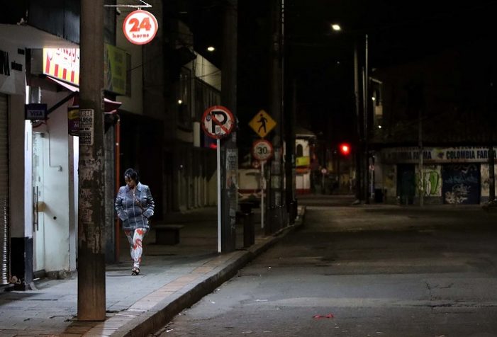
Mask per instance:
[[[223,23],[223,72],[221,102],[236,119],[238,0],[225,0]],[[238,148],[236,131],[220,141],[221,251],[236,249],[236,212],[238,209]]]

